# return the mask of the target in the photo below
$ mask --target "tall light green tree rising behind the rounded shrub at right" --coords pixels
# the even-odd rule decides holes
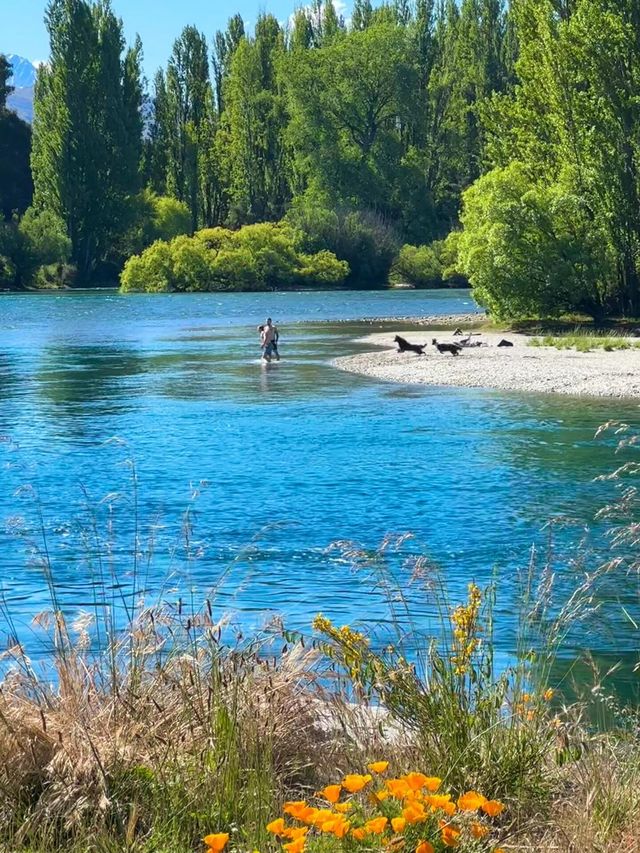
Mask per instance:
[[[640,9],[632,0],[520,0],[518,85],[482,110],[487,154],[583,200],[615,257],[609,310],[640,314]],[[584,235],[584,239],[589,234]]]

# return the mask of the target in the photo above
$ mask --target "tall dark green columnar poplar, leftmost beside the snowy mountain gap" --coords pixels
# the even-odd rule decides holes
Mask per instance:
[[[108,0],[51,0],[51,56],[36,83],[34,204],[66,225],[81,280],[120,232],[141,155],[140,46],[123,57]]]

